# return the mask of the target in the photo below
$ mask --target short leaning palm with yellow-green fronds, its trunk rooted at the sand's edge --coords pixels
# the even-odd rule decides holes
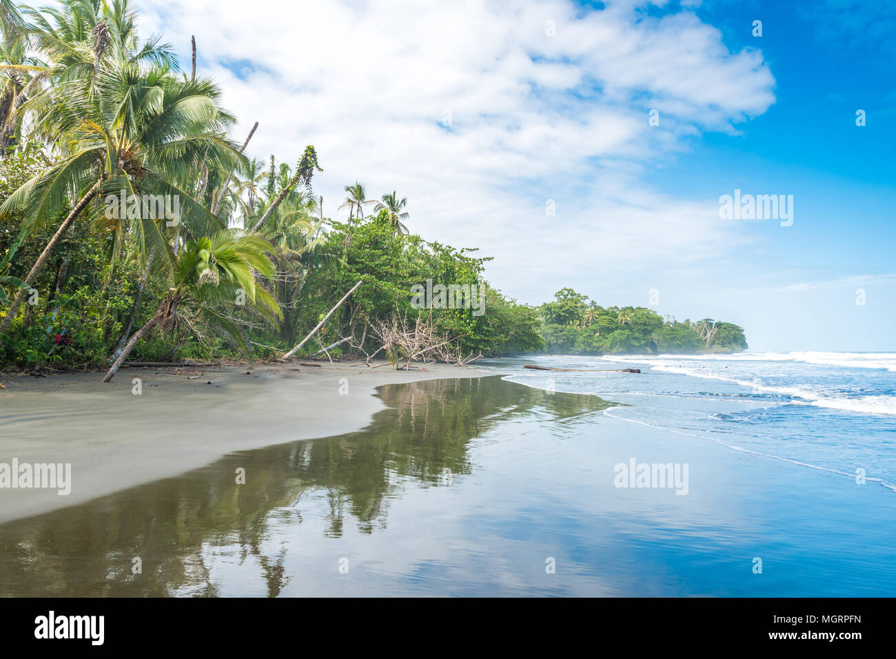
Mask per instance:
[[[271,245],[259,236],[239,235],[236,229],[228,229],[191,240],[177,255],[169,254],[171,286],[168,295],[152,318],[134,332],[103,381],[108,382],[115,377],[127,355],[151,329],[176,329],[177,314],[186,306],[194,307],[206,320],[225,329],[252,363],[252,353],[246,340],[237,325],[220,312],[220,308],[225,305],[235,308],[245,306],[269,321],[282,318],[280,307],[271,294],[255,284],[255,272],[264,277],[274,274],[273,262],[266,253],[270,249]]]

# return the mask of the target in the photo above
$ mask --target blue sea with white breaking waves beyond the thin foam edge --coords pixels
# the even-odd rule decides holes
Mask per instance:
[[[616,372],[523,372],[521,363]],[[539,356],[480,364],[506,380],[631,407],[604,414],[896,493],[896,353]]]

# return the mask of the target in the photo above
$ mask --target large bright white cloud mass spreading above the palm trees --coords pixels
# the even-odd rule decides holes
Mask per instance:
[[[235,140],[260,123],[252,154],[294,163],[314,144],[326,214],[356,180],[372,196],[397,190],[412,230],[495,256],[488,278],[526,301],[623,263],[659,272],[745,240],[715,199],[668,198],[641,182],[703,131],[735,133],[774,101],[762,54],[729,52],[690,11],[520,0],[141,9],[144,34],[163,32],[182,53],[196,35],[200,73],[242,122]],[[231,68],[246,63],[237,77]]]

